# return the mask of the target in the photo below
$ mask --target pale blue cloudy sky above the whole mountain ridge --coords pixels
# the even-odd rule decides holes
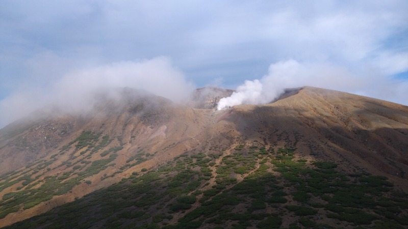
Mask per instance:
[[[262,98],[239,103],[263,103],[310,85],[408,105],[406,12],[405,0],[3,0],[0,128],[107,87],[181,101],[250,85]]]

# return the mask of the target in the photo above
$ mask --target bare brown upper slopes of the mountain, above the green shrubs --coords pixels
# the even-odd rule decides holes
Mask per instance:
[[[25,177],[26,180],[21,179],[8,187],[5,187],[6,183],[0,183],[3,199],[7,193],[19,193],[30,184],[35,185],[27,190],[41,188],[47,182],[46,177],[60,183],[71,180],[74,183],[67,184],[67,192],[60,194],[57,191],[51,199],[30,208],[25,208],[29,203],[22,203],[16,212],[0,219],[0,225],[43,213],[49,210],[49,206],[74,201],[77,197],[133,176],[133,173],[154,171],[186,152],[201,151],[208,152],[208,155],[218,151],[225,157],[223,149],[231,152],[242,144],[260,144],[275,151],[277,148],[296,148],[300,152],[296,155],[307,160],[338,163],[339,168],[348,173],[368,171],[387,176],[397,184],[396,187],[405,192],[408,190],[408,163],[405,159],[408,149],[407,106],[313,87],[289,91],[270,104],[238,105],[224,110],[214,110],[214,106],[211,109],[194,109],[164,98],[140,97],[137,93],[137,96],[132,96],[131,91],[127,93],[131,95],[125,98],[127,102],[116,103],[113,100],[111,105],[101,106],[101,110],[93,113],[92,117],[82,117],[80,121],[72,117],[62,118],[68,125],[67,137],[61,141],[54,140],[56,145],[49,146],[49,154],[37,158],[35,164],[21,167],[6,176],[3,174],[3,181],[8,177],[14,178],[9,184],[23,178],[24,173],[32,174],[30,178]],[[69,125],[70,122],[73,122],[72,125]],[[46,129],[55,130],[53,127],[60,125],[51,125],[52,121],[45,123],[31,127],[27,133],[38,131],[39,134]],[[42,129],[39,128],[41,125]],[[64,128],[57,129],[62,133]],[[32,141],[44,139],[46,131],[39,136]],[[14,136],[13,139],[21,140],[23,136]],[[0,142],[3,158],[5,152],[10,154],[7,147],[13,139]],[[42,141],[46,142],[46,138]],[[13,147],[17,151],[21,146],[14,144]],[[114,157],[107,159],[107,156],[101,156],[111,149],[107,155]],[[89,171],[94,161],[101,163],[104,160],[110,161],[97,171]],[[215,160],[215,163],[220,161]],[[74,167],[78,171],[72,169]],[[33,171],[33,168],[38,171],[34,173],[36,170]],[[213,176],[218,175],[213,173]],[[239,181],[244,178],[237,175]],[[24,181],[28,184],[23,185]],[[3,202],[9,203],[7,200]]]

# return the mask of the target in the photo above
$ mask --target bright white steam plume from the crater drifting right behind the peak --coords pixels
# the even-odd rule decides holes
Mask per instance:
[[[222,98],[217,109],[239,104],[269,103],[277,99],[286,88],[308,85],[390,101],[401,98],[401,101],[395,102],[405,104],[408,96],[401,92],[408,87],[408,83],[390,79],[379,72],[363,69],[353,73],[329,63],[299,63],[295,60],[277,62],[269,66],[268,74],[260,80],[246,80],[230,97]]]

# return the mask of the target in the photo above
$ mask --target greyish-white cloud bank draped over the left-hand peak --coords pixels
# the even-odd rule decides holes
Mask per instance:
[[[41,89],[25,85],[0,101],[0,127],[28,116],[46,105],[66,112],[83,112],[96,102],[101,90],[134,88],[171,99],[186,99],[194,85],[168,58],[112,63],[68,73]]]

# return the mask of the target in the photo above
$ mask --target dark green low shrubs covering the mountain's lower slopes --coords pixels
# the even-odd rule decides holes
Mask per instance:
[[[87,133],[84,139],[92,143],[95,135]],[[143,173],[135,172],[109,188],[9,228],[280,228],[287,217],[292,220],[289,228],[408,225],[407,195],[387,178],[347,175],[326,161],[306,165],[307,160],[295,159],[296,149],[257,144],[241,144],[227,156],[215,148],[211,153],[187,152],[157,169],[144,168]],[[99,173],[116,156],[111,151],[104,159],[83,163],[84,167],[74,165],[71,173],[78,173],[77,178],[61,174],[47,177],[38,189],[7,193],[0,202],[0,217],[18,211],[19,206],[35,206],[81,182],[92,184],[86,177]],[[149,156],[138,152],[127,163]],[[19,182],[30,181],[29,176],[25,179]],[[176,223],[169,224],[175,216]]]

